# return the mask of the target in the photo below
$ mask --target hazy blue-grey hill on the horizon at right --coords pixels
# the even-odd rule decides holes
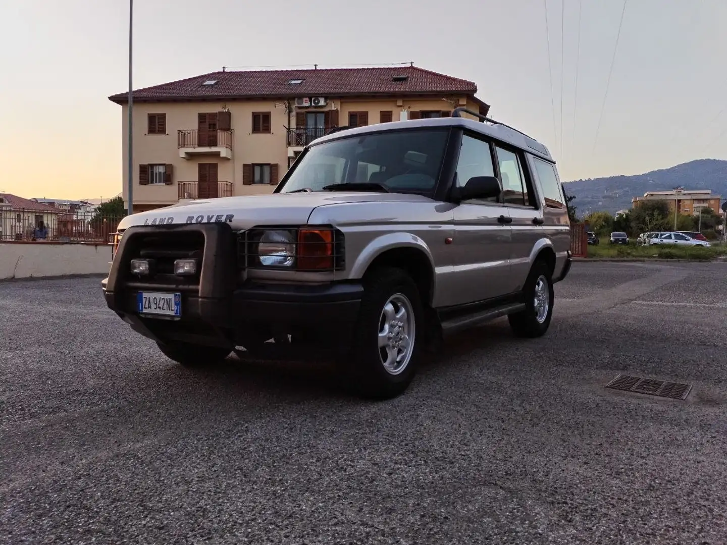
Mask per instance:
[[[727,161],[698,159],[669,169],[653,170],[633,176],[577,179],[566,182],[569,195],[576,195],[573,204],[581,217],[593,211],[630,209],[631,198],[647,191],[667,191],[675,187],[709,189],[727,198]]]

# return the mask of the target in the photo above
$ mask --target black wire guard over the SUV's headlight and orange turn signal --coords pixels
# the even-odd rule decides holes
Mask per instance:
[[[286,231],[291,233],[292,243],[284,246],[291,246],[294,249],[292,264],[263,265],[260,262],[258,246],[260,238],[266,231]],[[301,232],[321,232],[329,238],[326,240],[301,239]],[[320,254],[318,252],[321,252]],[[265,229],[250,229],[238,233],[238,265],[241,268],[257,270],[295,270],[297,272],[325,273],[336,270],[345,270],[345,247],[344,235],[340,230],[333,227],[265,227]],[[316,263],[315,257],[331,257],[331,265],[326,267],[313,266]]]

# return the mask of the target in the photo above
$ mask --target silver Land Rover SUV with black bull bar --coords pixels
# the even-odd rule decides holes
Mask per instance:
[[[392,397],[446,334],[505,315],[545,334],[569,247],[547,148],[458,108],[337,129],[272,195],[126,217],[103,291],[182,365],[330,351],[360,392]]]

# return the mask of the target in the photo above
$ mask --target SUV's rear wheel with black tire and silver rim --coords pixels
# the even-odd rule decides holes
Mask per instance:
[[[553,275],[543,261],[534,263],[523,287],[526,309],[507,316],[515,336],[534,338],[545,334],[553,318]],[[536,300],[539,304],[536,304]],[[545,307],[544,307],[545,306]]]

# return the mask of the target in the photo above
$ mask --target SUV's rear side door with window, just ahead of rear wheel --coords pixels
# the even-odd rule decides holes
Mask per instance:
[[[515,148],[495,144],[497,172],[502,195],[512,222],[510,243],[510,275],[508,291],[520,291],[530,272],[530,254],[543,236],[542,209],[532,189],[532,178],[526,169],[524,154]]]

